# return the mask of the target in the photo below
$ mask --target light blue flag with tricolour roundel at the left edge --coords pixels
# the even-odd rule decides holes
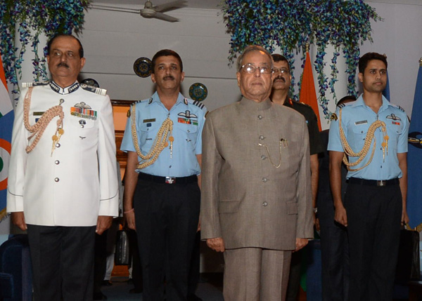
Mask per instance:
[[[13,106],[0,55],[0,222],[6,216],[8,164],[11,158]]]

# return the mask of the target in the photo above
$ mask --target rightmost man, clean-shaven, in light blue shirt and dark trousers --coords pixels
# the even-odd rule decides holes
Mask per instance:
[[[387,60],[379,53],[359,59],[364,93],[337,110],[331,121],[330,183],[335,220],[347,227],[349,301],[392,300],[400,222],[409,222],[406,113],[383,97]],[[348,160],[343,159],[347,154]],[[341,165],[348,183],[341,194]]]

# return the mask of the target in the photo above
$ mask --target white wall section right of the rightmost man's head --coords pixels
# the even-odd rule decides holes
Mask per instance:
[[[388,60],[391,102],[411,115],[422,57],[422,5],[370,3],[383,22],[372,22],[373,44],[366,42],[361,53],[385,53]]]

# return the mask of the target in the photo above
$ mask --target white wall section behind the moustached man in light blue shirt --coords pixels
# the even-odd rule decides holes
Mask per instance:
[[[154,91],[151,77],[133,71],[139,57],[152,58],[163,48],[177,51],[186,73],[182,92],[188,97],[192,83],[204,83],[203,102],[215,109],[238,100],[236,71],[228,67],[230,36],[217,10],[182,8],[173,12],[180,22],[145,19],[132,13],[89,10],[81,36],[87,64],[82,77],[107,88],[110,98],[139,100]]]

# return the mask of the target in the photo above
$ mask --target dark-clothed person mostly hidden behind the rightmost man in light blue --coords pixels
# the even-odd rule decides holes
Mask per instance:
[[[338,101],[338,106],[356,100],[354,96],[345,96]],[[335,114],[333,114],[335,116]],[[336,116],[333,118],[337,118]],[[322,265],[322,300],[347,300],[349,293],[349,243],[347,229],[334,220],[333,194],[330,187],[328,156],[329,130],[321,131],[324,153],[319,156],[319,185],[316,205],[319,220],[319,236],[321,237],[321,265]],[[341,195],[345,195],[347,168],[341,168]]]

